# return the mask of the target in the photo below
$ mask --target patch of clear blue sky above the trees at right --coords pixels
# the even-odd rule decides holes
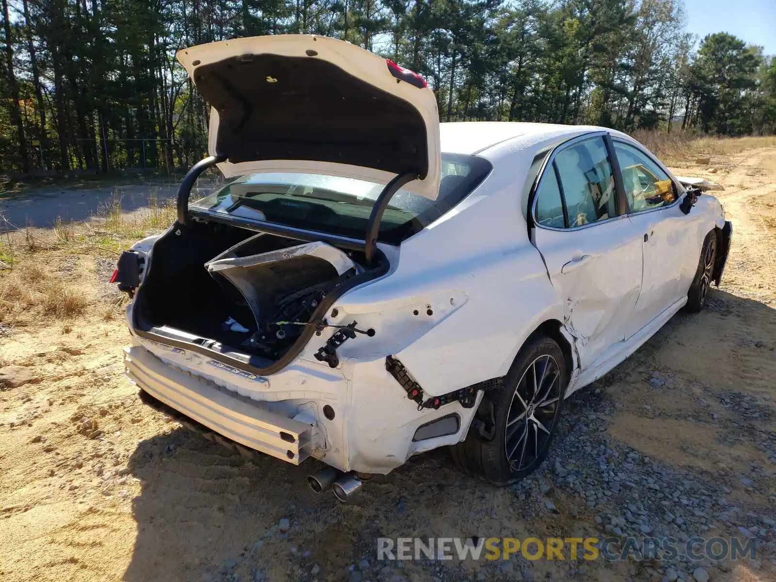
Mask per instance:
[[[684,0],[687,29],[701,38],[730,33],[776,55],[776,0]]]

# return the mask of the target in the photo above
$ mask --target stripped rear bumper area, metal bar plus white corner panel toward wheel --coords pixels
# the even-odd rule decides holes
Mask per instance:
[[[145,342],[125,349],[125,369],[145,404],[243,456],[265,452],[293,464],[312,456],[361,473],[387,474],[418,452],[459,442],[481,394],[473,407],[419,409],[384,357],[343,359],[338,369],[299,359],[268,378],[248,377]]]

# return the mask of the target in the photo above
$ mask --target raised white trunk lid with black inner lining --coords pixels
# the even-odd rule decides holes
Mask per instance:
[[[337,175],[438,195],[436,99],[417,74],[342,40],[253,36],[178,52],[210,104],[208,148],[227,177]]]

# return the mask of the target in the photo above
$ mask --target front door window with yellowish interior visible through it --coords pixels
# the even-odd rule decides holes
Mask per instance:
[[[670,206],[677,199],[674,182],[660,166],[636,147],[615,141],[615,154],[630,212]]]

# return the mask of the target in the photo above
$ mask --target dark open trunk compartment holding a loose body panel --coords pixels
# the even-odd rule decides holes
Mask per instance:
[[[380,259],[365,269],[362,252],[320,241],[220,223],[176,224],[154,244],[133,324],[154,341],[198,346],[263,369],[300,352],[327,301],[386,272]]]

